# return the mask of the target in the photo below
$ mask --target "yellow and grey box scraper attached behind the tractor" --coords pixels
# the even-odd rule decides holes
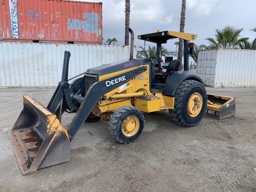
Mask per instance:
[[[236,113],[234,97],[207,94],[207,113],[214,113],[220,119],[228,118]]]

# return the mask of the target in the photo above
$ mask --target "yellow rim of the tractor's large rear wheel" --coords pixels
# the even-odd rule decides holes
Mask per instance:
[[[191,95],[187,102],[187,112],[191,117],[196,117],[202,110],[203,98],[200,93]]]

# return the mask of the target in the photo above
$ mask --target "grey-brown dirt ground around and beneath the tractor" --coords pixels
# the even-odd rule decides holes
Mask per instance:
[[[236,116],[206,114],[195,127],[176,125],[167,111],[145,114],[144,132],[131,144],[117,143],[108,122],[84,123],[69,162],[22,175],[7,131],[22,95],[46,106],[54,90],[0,89],[0,191],[256,191],[256,88],[207,88],[236,97]]]

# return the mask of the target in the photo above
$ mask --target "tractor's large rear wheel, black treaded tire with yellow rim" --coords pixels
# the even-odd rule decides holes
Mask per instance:
[[[207,94],[203,84],[185,80],[176,90],[174,110],[169,110],[169,114],[177,124],[191,127],[202,120],[206,105]]]

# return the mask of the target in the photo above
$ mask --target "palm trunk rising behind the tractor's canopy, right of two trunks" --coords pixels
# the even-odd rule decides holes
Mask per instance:
[[[184,32],[185,28],[185,13],[186,13],[186,0],[182,0],[181,13],[180,13],[180,32]],[[179,71],[182,69],[182,49],[183,49],[183,39],[179,39],[179,51],[178,60],[180,61]]]

